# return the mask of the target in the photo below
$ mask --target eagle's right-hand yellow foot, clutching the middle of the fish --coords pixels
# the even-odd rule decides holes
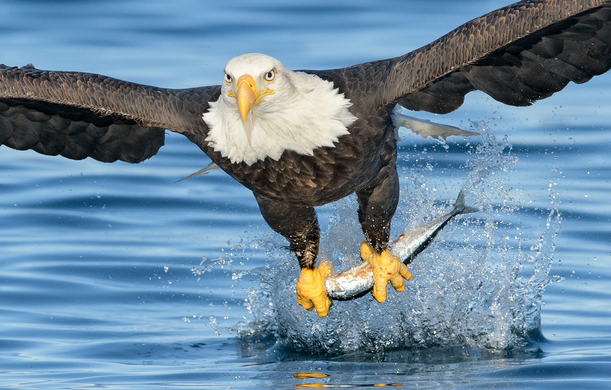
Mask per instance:
[[[401,260],[390,253],[388,249],[384,249],[378,253],[371,249],[371,246],[365,241],[360,245],[360,257],[366,260],[371,265],[373,270],[373,297],[378,302],[386,301],[386,286],[388,282],[392,284],[398,292],[405,289],[406,279],[410,281],[413,276],[408,271],[408,267]]]

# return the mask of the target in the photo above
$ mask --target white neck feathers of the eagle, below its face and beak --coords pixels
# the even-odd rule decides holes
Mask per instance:
[[[202,115],[207,123],[206,141],[232,163],[252,165],[269,157],[278,160],[285,150],[313,155],[348,134],[357,118],[348,111],[352,105],[333,83],[316,75],[287,70],[287,83],[255,105],[246,123],[235,98],[222,93]],[[250,142],[247,133],[251,134]]]

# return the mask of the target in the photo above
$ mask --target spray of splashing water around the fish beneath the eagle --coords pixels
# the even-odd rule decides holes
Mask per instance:
[[[550,208],[543,232],[513,218],[523,210],[507,188],[508,173],[518,159],[507,139],[497,142],[486,123],[472,127],[482,134],[482,142],[469,152],[467,177],[454,190],[465,188],[467,204],[482,212],[458,217],[445,228],[409,266],[414,280],[403,293],[390,293],[389,288],[385,303],[370,295],[334,302],[329,315],[319,318],[296,303],[299,268],[279,238],[268,248],[273,267],[252,271],[259,276],[258,287],[246,304],[254,318],[236,326],[240,337],[275,336],[290,350],[344,353],[433,345],[506,350],[540,333],[544,288],[559,279],[548,275],[560,216]],[[423,170],[433,166],[404,172],[407,183],[393,219],[394,235],[447,212],[453,201],[436,199],[436,188],[426,185]],[[331,207],[320,257],[346,269],[360,262],[356,199],[348,197]]]

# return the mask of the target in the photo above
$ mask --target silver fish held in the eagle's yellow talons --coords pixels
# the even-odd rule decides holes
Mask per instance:
[[[390,253],[401,259],[403,263],[409,264],[433,242],[437,234],[450,222],[450,219],[459,214],[475,213],[477,211],[479,211],[477,207],[464,205],[464,193],[460,191],[451,212],[401,235],[393,243]],[[327,296],[332,300],[349,301],[359,298],[373,289],[371,266],[369,262],[362,262],[357,267],[329,276],[324,281],[324,287],[327,289]]]

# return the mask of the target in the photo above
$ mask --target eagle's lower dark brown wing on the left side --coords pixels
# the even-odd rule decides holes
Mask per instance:
[[[80,72],[0,65],[0,145],[73,160],[139,163],[166,129],[207,133],[201,115],[219,86],[164,89]]]

